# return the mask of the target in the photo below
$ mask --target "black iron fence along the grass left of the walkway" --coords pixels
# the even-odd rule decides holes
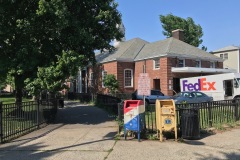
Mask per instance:
[[[58,107],[63,107],[63,105],[63,99],[29,101],[20,104],[0,102],[0,143],[10,141],[53,122]]]

